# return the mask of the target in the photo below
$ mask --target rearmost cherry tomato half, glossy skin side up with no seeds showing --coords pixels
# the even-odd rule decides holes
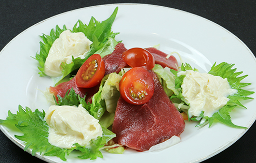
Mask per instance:
[[[123,53],[123,60],[131,67],[150,70],[155,66],[154,56],[143,48],[131,48]]]

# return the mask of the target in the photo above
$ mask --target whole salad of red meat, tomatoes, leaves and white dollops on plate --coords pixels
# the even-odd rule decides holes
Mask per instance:
[[[118,7],[105,21],[78,20],[72,29],[58,25],[41,36],[36,53],[39,76],[55,85],[42,90],[52,103],[34,112],[19,106],[0,124],[12,124],[24,135],[32,155],[65,156],[79,151],[80,159],[103,158],[102,150],[122,154],[161,150],[180,141],[184,121],[195,127],[232,123],[230,112],[240,100],[252,99],[246,78],[234,64],[214,63],[200,73],[189,63],[178,64],[171,54],[152,47],[126,49],[112,32]],[[176,53],[176,52],[173,52]]]

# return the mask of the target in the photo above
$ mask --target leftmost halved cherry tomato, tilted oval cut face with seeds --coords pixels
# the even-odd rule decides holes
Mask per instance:
[[[99,54],[91,55],[76,73],[76,85],[90,88],[99,84],[105,74],[105,64]]]

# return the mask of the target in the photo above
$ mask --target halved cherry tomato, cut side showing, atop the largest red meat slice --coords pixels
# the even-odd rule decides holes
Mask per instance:
[[[150,73],[142,67],[127,71],[119,83],[122,98],[133,105],[141,105],[151,99],[154,93],[154,81]]]

